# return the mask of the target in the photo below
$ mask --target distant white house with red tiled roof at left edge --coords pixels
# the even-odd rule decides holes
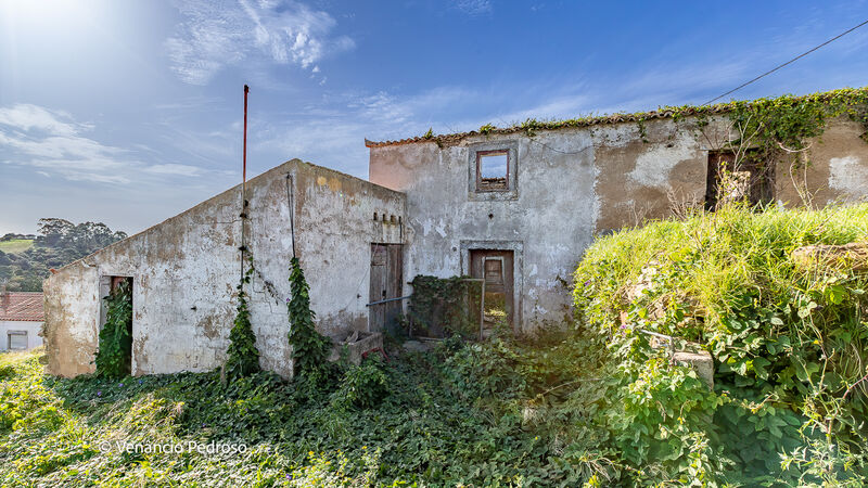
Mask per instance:
[[[0,351],[42,345],[42,300],[41,292],[0,293]]]

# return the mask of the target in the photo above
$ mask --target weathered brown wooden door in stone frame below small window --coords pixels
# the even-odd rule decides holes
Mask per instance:
[[[484,281],[481,338],[492,335],[497,328],[512,330],[514,324],[515,290],[513,252],[499,249],[471,249],[470,275]]]

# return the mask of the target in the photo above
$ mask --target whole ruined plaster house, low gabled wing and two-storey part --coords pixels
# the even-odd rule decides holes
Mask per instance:
[[[297,159],[266,171],[247,182],[243,211],[261,365],[292,373],[284,300],[293,255],[310,283],[317,326],[333,337],[395,328],[406,305],[392,298],[410,295],[408,282],[418,274],[484,280],[520,333],[570,312],[572,271],[596,235],[709,206],[723,184],[720,168],[740,176],[739,191],[752,202],[821,206],[868,195],[868,143],[858,117],[827,120],[820,137],[804,147],[781,146],[760,171],[742,157],[756,143],[727,116],[732,110],[366,141],[370,181]],[[118,278],[132,283],[133,374],[219,367],[241,273],[241,191],[50,277],[49,371],[93,371],[101,297]]]

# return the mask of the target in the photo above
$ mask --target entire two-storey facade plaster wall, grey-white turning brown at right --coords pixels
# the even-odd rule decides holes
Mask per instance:
[[[807,181],[816,202],[868,194],[864,130],[835,119],[813,142]],[[691,118],[651,119],[644,133],[623,123],[534,137],[477,134],[443,147],[435,141],[374,145],[369,170],[372,182],[407,194],[406,281],[468,272],[468,243],[521,244],[515,287],[522,329],[531,330],[562,318],[570,303],[564,282],[595,234],[668,217],[672,201],[701,203],[709,151],[737,136],[725,117],[702,128]],[[472,154],[498,145],[518,147],[518,198],[478,201],[468,190]],[[776,198],[799,204],[783,166],[777,168]]]

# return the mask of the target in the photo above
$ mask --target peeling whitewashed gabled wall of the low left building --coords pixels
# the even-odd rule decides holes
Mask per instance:
[[[321,332],[367,328],[370,243],[398,243],[400,193],[294,159],[247,182],[248,287],[260,364],[288,376],[289,262],[296,253]],[[290,205],[294,220],[291,224]],[[241,185],[61,269],[44,283],[49,371],[93,371],[101,277],[133,279],[133,374],[207,371],[225,360],[241,278]],[[103,280],[104,282],[104,280]],[[104,287],[104,285],[103,285]]]

